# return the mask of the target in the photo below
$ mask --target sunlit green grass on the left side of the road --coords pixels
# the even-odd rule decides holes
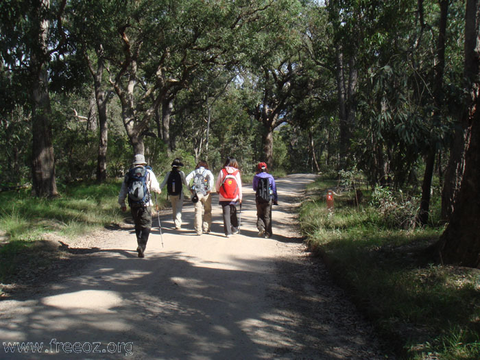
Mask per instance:
[[[32,197],[28,189],[0,193],[0,295],[2,283],[58,259],[45,234],[76,237],[121,223],[128,214],[117,203],[120,187],[121,180],[69,184],[55,199]],[[166,192],[157,196],[160,208],[167,206]]]

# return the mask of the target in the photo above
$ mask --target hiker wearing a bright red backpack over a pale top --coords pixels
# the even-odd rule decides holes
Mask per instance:
[[[220,170],[215,182],[215,189],[219,193],[219,204],[224,216],[224,232],[226,237],[239,233],[239,220],[237,219],[237,202],[241,206],[241,178],[239,165],[235,158],[229,156],[224,167]]]

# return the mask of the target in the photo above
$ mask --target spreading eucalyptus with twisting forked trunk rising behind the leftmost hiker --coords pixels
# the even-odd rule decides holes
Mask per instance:
[[[265,19],[274,1],[112,1],[117,36],[106,56],[110,82],[122,106],[134,152],[161,107],[162,137],[171,150],[174,99],[207,64],[237,61],[252,23]]]

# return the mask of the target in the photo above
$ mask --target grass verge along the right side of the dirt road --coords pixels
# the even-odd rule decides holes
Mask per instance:
[[[429,246],[444,229],[394,228],[368,202],[349,206],[351,193],[329,213],[325,191],[333,187],[310,187],[300,225],[387,346],[404,359],[480,359],[480,272],[433,263]]]

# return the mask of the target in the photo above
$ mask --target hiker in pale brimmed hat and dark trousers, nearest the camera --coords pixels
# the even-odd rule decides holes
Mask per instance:
[[[119,204],[121,211],[127,211],[125,199],[128,198],[128,206],[132,213],[135,224],[136,251],[139,258],[145,255],[148,236],[152,228],[152,197],[150,193],[161,193],[158,181],[151,167],[147,167],[145,156],[136,154],[133,159],[132,167],[125,173],[119,193]]]

